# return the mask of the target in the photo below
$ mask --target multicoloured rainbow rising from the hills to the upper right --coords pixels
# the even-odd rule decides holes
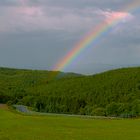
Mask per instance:
[[[83,37],[74,47],[70,50],[53,68],[55,71],[64,71],[85,49],[95,46],[95,44],[104,37],[110,30],[118,25],[121,21],[125,20],[130,14],[135,12],[140,6],[138,0],[133,1],[123,8],[124,12],[112,12],[109,17],[104,20],[100,25]]]

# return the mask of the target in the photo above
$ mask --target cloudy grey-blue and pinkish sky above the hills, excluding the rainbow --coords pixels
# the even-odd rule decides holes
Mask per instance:
[[[0,0],[0,66],[53,70],[86,34],[118,13],[128,15],[81,52],[65,72],[94,74],[140,66],[140,2],[132,0]]]

